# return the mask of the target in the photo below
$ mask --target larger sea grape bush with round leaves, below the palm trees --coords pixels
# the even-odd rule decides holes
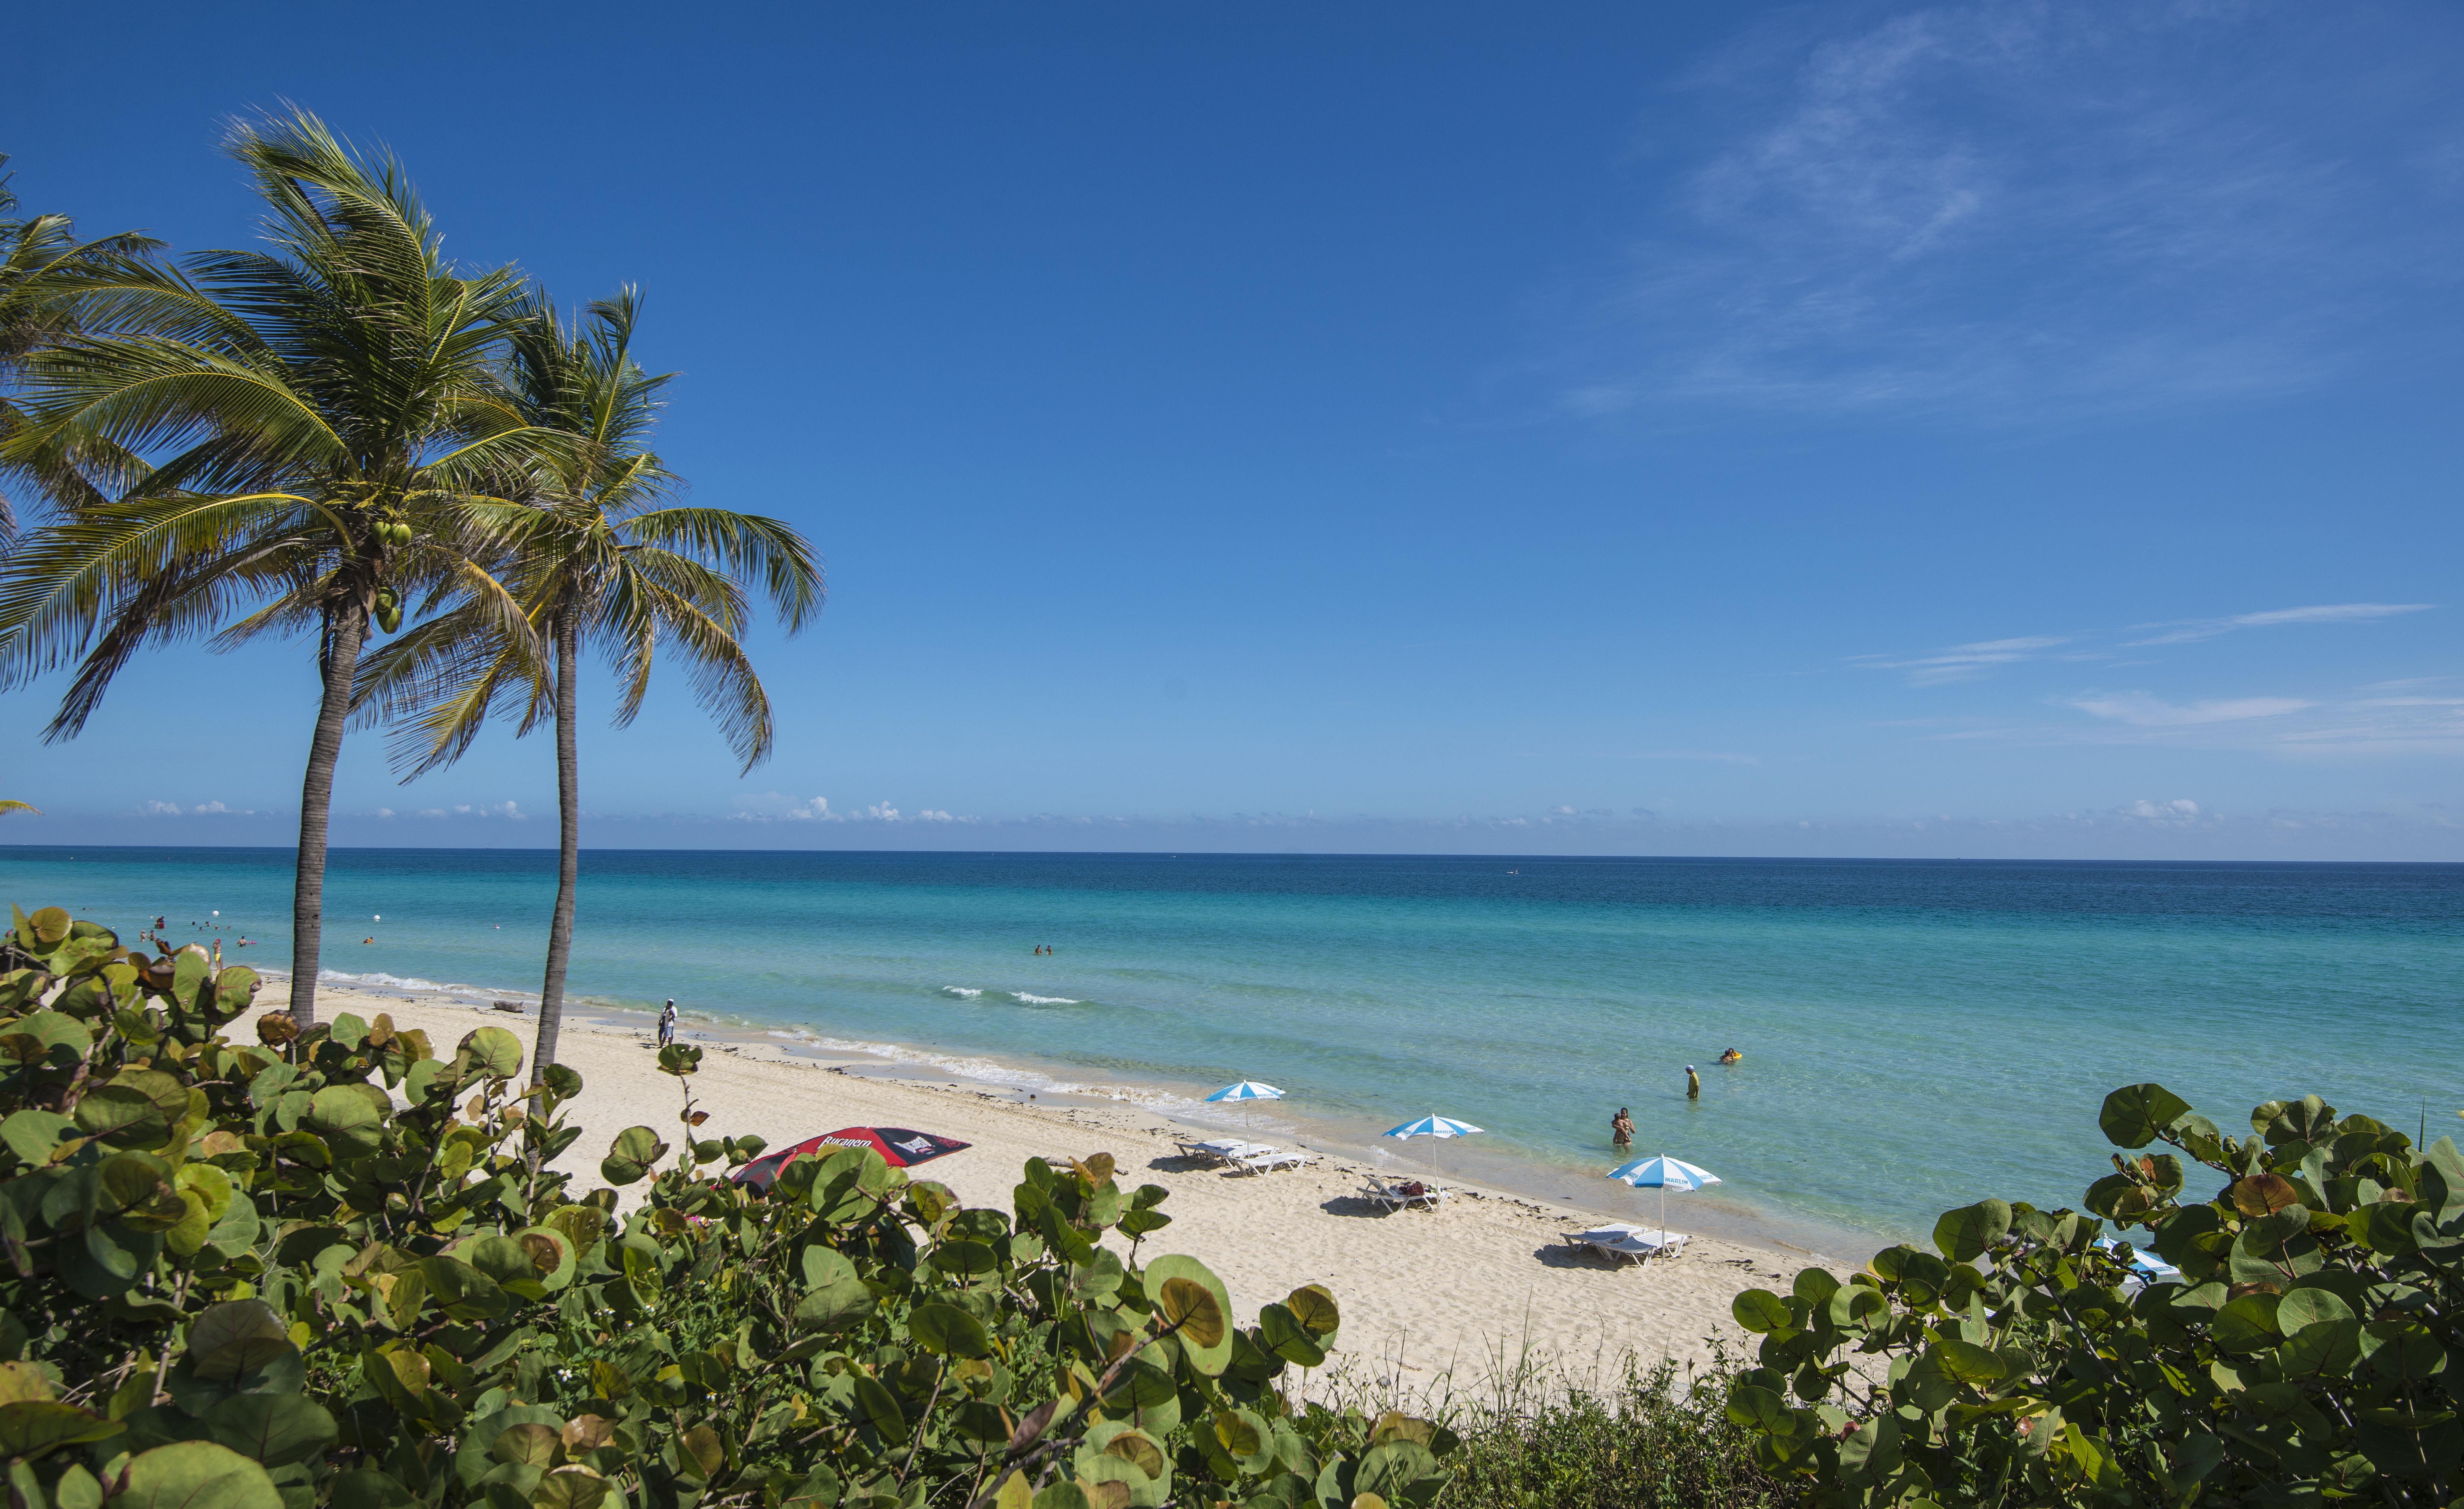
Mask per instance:
[[[1454,1437],[1294,1401],[1335,1299],[1232,1324],[1165,1191],[1032,1159],[966,1208],[870,1149],[769,1191],[705,1139],[697,1048],[569,1191],[582,1080],[483,1026],[283,1013],[249,969],[52,907],[0,944],[10,1509],[1126,1509],[1429,1504]],[[668,1154],[675,1154],[673,1159]],[[663,1166],[665,1161],[665,1166]],[[1129,1258],[1106,1245],[1126,1238]]]

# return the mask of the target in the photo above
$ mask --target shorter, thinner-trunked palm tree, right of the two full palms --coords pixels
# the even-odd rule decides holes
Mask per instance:
[[[505,385],[535,429],[567,436],[540,449],[522,476],[505,478],[505,503],[485,518],[503,589],[520,604],[510,624],[490,594],[466,597],[367,666],[367,720],[397,725],[397,762],[414,779],[471,747],[490,710],[517,710],[520,732],[554,720],[557,732],[557,910],[547,925],[547,979],[532,1073],[557,1060],[564,971],[574,944],[574,878],[582,851],[582,764],[574,725],[584,641],[618,681],[616,727],[633,722],[650,690],[658,648],[687,666],[695,700],[744,769],[769,759],[771,710],[744,653],[747,579],[756,579],[788,634],[821,609],[823,582],[811,545],[793,528],[724,508],[685,508],[648,449],[660,392],[633,360],[641,296],[626,288],[564,325],[540,301],[515,330]],[[461,589],[453,589],[461,592]],[[542,663],[537,644],[552,646]]]

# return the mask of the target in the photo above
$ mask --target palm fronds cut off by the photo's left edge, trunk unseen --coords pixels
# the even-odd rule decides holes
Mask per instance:
[[[0,153],[7,168],[7,153]],[[143,279],[160,242],[123,232],[79,242],[67,215],[17,219],[17,195],[0,173],[0,446],[25,431],[15,380],[27,358],[81,330],[108,330],[123,313],[116,284]],[[0,464],[0,483],[25,483],[67,505],[94,501],[64,466]],[[0,488],[0,540],[17,533],[17,508]]]

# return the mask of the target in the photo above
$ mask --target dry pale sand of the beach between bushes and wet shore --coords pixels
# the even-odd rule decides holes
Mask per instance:
[[[278,1008],[288,986],[266,984],[259,1008]],[[421,1028],[439,1053],[451,1053],[476,1026],[495,1023],[522,1038],[537,1018],[424,996],[379,996],[318,989],[318,1016],[389,1013]],[[246,1021],[229,1028],[246,1038]],[[1121,1184],[1173,1191],[1163,1211],[1173,1225],[1146,1240],[1146,1255],[1190,1253],[1232,1290],[1247,1317],[1299,1285],[1323,1282],[1343,1304],[1343,1376],[1427,1391],[1451,1373],[1476,1383],[1501,1361],[1525,1354],[1552,1361],[1565,1376],[1594,1371],[1614,1378],[1624,1356],[1700,1364],[1710,1339],[1747,1341],[1730,1319],[1730,1299],[1749,1287],[1786,1287],[1804,1255],[1698,1235],[1680,1258],[1607,1267],[1572,1255],[1560,1233],[1582,1230],[1597,1213],[1545,1206],[1523,1196],[1449,1184],[1459,1191],[1439,1211],[1377,1213],[1360,1198],[1365,1166],[1323,1159],[1303,1171],[1225,1176],[1193,1169],[1173,1139],[1190,1137],[1163,1117],[1124,1105],[1020,1105],[1008,1090],[954,1078],[914,1080],[853,1073],[850,1060],[793,1058],[769,1043],[685,1033],[705,1048],[692,1080],[695,1102],[710,1110],[705,1134],[759,1134],[786,1147],[838,1127],[912,1127],[973,1147],[931,1161],[919,1179],[939,1179],[971,1206],[1008,1211],[1020,1164],[1030,1156],[1114,1154]],[[574,1188],[599,1188],[599,1159],[623,1127],[648,1124],[675,1139],[678,1082],[653,1063],[650,1028],[567,1018],[557,1058],[584,1078],[572,1117],[582,1139],[564,1154]],[[1205,1137],[1205,1134],[1200,1134]],[[1289,1147],[1289,1144],[1286,1144]],[[1671,1213],[1671,1225],[1683,1221]]]

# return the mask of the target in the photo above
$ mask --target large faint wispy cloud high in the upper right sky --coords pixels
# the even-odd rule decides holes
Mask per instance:
[[[1799,7],[1676,104],[1680,173],[1574,335],[1577,414],[2030,422],[2299,390],[2447,279],[2437,49],[2353,12]],[[1855,12],[1846,12],[1855,15]],[[1843,25],[1858,30],[1841,30]]]

